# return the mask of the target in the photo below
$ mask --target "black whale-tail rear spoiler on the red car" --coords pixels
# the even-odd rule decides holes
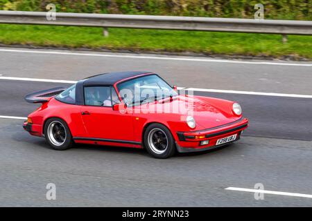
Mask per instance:
[[[51,88],[49,90],[40,90],[35,93],[28,94],[24,97],[28,103],[45,103],[48,102],[51,97],[62,93],[66,88],[58,87]]]

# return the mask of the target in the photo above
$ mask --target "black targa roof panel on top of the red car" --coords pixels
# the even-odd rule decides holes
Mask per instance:
[[[143,75],[149,72],[146,71],[126,71],[126,72],[115,72],[115,73],[105,73],[101,75],[95,75],[88,77],[83,80],[84,86],[95,86],[95,85],[113,85],[117,81],[126,79],[128,77],[135,77],[137,75]]]

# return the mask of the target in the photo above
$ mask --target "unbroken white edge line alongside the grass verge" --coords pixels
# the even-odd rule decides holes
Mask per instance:
[[[116,57],[116,58],[131,58],[131,59],[158,59],[171,61],[203,61],[203,62],[220,62],[233,64],[264,64],[264,65],[281,65],[281,66],[306,66],[311,67],[312,64],[297,64],[297,63],[277,63],[268,61],[234,61],[227,59],[200,59],[200,58],[185,58],[185,57],[156,57],[156,56],[140,56],[140,55],[108,55],[85,52],[60,52],[60,51],[44,51],[44,50],[14,50],[14,49],[0,49],[0,52],[24,52],[37,54],[51,54],[51,55],[79,55],[79,56],[96,56],[96,57]]]

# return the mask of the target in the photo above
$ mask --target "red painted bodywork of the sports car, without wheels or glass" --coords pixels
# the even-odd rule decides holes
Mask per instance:
[[[115,75],[119,75],[119,73],[115,73]],[[155,74],[132,72],[130,75],[117,77],[115,81],[112,81],[114,83],[111,82],[121,104],[123,102],[118,84],[146,75]],[[76,96],[77,90],[83,90],[83,86],[78,87],[78,84]],[[101,85],[101,82],[96,85]],[[43,97],[42,106],[28,115],[28,121],[24,122],[24,129],[31,135],[44,136],[46,120],[58,117],[69,126],[75,143],[144,148],[144,130],[148,125],[158,123],[171,131],[177,151],[193,152],[213,148],[216,146],[217,140],[230,135],[236,135],[234,141],[239,140],[241,132],[248,127],[248,119],[234,113],[232,106],[235,102],[212,97],[177,95],[148,104],[125,107],[123,113],[116,111],[112,106],[86,106],[83,102],[81,104],[66,104],[55,97],[48,97]],[[193,106],[195,128],[190,128],[182,120],[186,115],[181,111],[148,113],[148,110],[155,106],[166,106],[172,110],[174,106],[185,105],[189,102],[192,102]],[[209,144],[201,145],[200,142],[203,140],[209,140]]]

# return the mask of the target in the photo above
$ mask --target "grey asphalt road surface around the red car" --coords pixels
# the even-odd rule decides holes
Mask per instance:
[[[225,148],[156,160],[110,146],[53,151],[21,128],[22,119],[6,119],[36,108],[24,102],[26,93],[69,84],[1,77],[78,80],[122,70],[224,90],[195,94],[239,102],[250,128]],[[0,75],[0,206],[312,206],[309,63],[0,48]],[[56,185],[56,200],[46,200],[48,183]],[[275,194],[256,200],[252,192],[226,190],[259,183]]]

